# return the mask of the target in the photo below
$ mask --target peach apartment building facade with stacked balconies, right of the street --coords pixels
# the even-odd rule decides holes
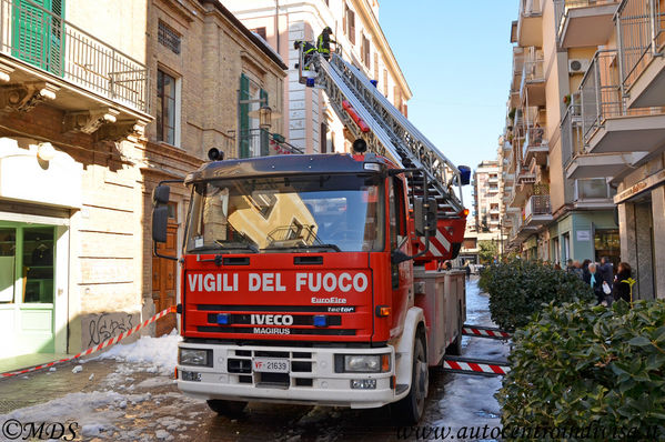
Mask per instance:
[[[663,0],[522,1],[513,26],[508,108],[522,112],[506,134],[516,141],[520,179],[520,168],[538,158],[528,120],[545,122],[545,167],[534,179],[550,184],[551,198],[551,213],[536,225],[513,215],[524,225],[514,227],[516,242],[553,261],[626,261],[642,299],[665,297],[664,13]]]

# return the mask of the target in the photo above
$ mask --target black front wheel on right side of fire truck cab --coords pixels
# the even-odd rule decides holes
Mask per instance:
[[[399,419],[406,424],[420,422],[425,411],[425,399],[430,386],[430,370],[425,354],[422,332],[419,332],[413,345],[413,369],[411,371],[411,390],[406,398],[395,403],[394,410]]]

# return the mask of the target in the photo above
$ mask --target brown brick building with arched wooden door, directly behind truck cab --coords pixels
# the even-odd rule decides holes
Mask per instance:
[[[216,0],[150,0],[147,64],[155,80],[154,122],[147,128],[143,204],[162,180],[181,180],[216,148],[225,158],[293,153],[285,143],[283,90],[286,66],[268,43]],[[171,187],[168,242],[177,255],[184,235],[190,191]],[[177,303],[177,263],[152,257],[150,224],[143,227],[143,309],[151,315]],[[152,257],[150,259],[150,257]],[[160,320],[157,333],[174,318]]]

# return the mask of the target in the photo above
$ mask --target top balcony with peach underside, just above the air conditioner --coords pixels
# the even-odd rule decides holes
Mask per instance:
[[[618,0],[554,0],[558,46],[567,49],[606,44],[618,3]]]

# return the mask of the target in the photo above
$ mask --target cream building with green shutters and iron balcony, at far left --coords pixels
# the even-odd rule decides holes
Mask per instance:
[[[0,0],[0,358],[140,321],[147,8],[114,3]]]

